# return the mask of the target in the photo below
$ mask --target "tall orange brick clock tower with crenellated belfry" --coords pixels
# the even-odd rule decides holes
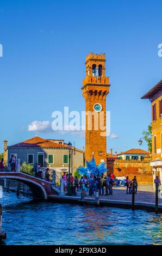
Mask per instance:
[[[89,53],[85,67],[82,87],[86,108],[85,159],[89,161],[95,154],[99,164],[106,162],[107,157],[106,96],[110,85],[109,77],[105,77],[105,54]]]

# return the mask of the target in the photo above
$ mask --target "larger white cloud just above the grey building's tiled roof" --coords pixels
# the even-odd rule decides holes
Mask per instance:
[[[51,130],[51,123],[49,121],[33,121],[28,125],[29,132],[49,132]]]

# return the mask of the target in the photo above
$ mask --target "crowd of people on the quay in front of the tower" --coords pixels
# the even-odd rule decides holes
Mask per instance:
[[[67,191],[68,174],[64,172],[61,178],[64,181],[64,191]],[[99,192],[101,196],[103,196],[104,193],[105,196],[113,195],[114,180],[115,177],[113,174],[104,175],[104,173],[102,173],[101,176],[91,174],[90,177],[84,175],[80,179],[78,179],[78,176],[73,177],[73,175],[70,174],[71,186],[76,187],[76,191],[78,191],[78,189],[88,191],[89,187],[90,196],[94,196],[95,192]]]

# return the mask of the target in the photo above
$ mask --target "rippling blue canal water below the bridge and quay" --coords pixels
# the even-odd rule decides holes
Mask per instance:
[[[0,245],[161,245],[162,215],[144,210],[34,202],[3,191]]]

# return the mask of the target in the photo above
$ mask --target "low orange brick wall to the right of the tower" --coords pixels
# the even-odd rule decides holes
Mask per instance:
[[[114,163],[114,174],[115,176],[129,176],[129,179],[133,179],[136,175],[138,183],[152,184],[152,167],[150,166],[149,160],[143,161],[126,161],[116,160]]]

